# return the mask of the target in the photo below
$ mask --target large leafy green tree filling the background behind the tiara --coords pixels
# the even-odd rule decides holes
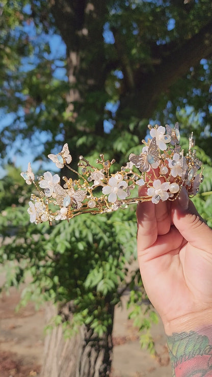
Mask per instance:
[[[94,161],[103,151],[121,166],[132,148],[140,148],[149,119],[162,123],[178,119],[185,137],[195,130],[208,157],[201,149],[199,153],[211,164],[209,0],[187,4],[21,0],[3,1],[1,7],[0,103],[3,116],[13,117],[1,131],[3,157],[19,135],[30,140],[30,148],[40,148],[45,138],[37,158],[66,141],[73,161],[82,153]],[[58,51],[52,57],[50,44],[56,35],[66,46],[65,56]],[[61,78],[57,72],[64,68]],[[110,132],[105,121],[111,124]],[[210,191],[207,169],[206,191]],[[12,188],[14,184],[12,180]],[[18,187],[24,203],[29,193],[20,182]],[[201,196],[197,204],[209,221],[206,198]],[[127,272],[136,258],[135,211],[119,211],[107,218],[81,216],[50,229],[29,226],[23,208],[17,203],[11,207],[12,201],[14,195],[8,198],[7,216],[1,220],[4,239],[15,237],[9,245],[3,240],[1,258],[19,262],[10,283],[21,282],[29,265],[33,284],[24,300],[35,297],[58,303],[58,327],[53,326],[47,337],[43,375],[65,376],[67,370],[70,376],[109,375],[114,306],[127,287],[132,303],[145,294],[138,271]],[[24,239],[21,245],[20,239]],[[132,316],[142,310],[136,306]],[[153,312],[149,315],[154,319]],[[70,351],[72,341],[61,337],[61,329],[65,327],[68,334],[79,326],[75,354]],[[139,327],[143,329],[142,321]],[[73,358],[67,357],[70,353]]]

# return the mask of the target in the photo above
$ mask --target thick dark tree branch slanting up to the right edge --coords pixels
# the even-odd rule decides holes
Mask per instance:
[[[147,73],[138,80],[134,100],[138,109],[138,103],[140,104],[140,116],[150,117],[160,95],[179,77],[186,75],[191,67],[197,66],[201,59],[208,58],[211,54],[212,21],[182,46],[170,51],[153,73]]]

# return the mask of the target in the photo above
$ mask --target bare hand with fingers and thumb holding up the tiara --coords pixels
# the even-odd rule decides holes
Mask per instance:
[[[140,202],[137,218],[142,280],[166,333],[211,324],[212,230],[186,189],[173,202]]]

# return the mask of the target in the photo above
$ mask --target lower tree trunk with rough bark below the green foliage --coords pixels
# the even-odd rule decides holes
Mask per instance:
[[[110,312],[113,324],[114,306],[110,307]],[[57,314],[56,307],[47,304],[47,322]],[[54,327],[45,337],[41,377],[109,376],[113,354],[113,325],[107,330],[106,334],[98,337],[91,328],[84,325],[72,338],[64,339],[62,325]]]

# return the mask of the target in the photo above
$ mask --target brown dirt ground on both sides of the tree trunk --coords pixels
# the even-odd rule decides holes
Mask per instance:
[[[44,309],[35,311],[29,304],[16,312],[19,297],[15,288],[10,295],[0,297],[0,377],[38,377],[43,361]],[[115,311],[112,377],[170,377],[162,324],[152,328],[157,355],[151,356],[140,347],[138,332],[127,319],[125,302],[123,297],[123,308]]]

